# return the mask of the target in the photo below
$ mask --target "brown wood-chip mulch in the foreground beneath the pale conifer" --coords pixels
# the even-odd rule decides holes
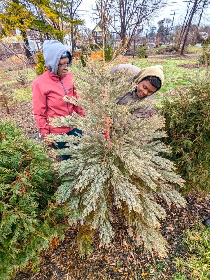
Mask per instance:
[[[112,222],[115,238],[107,249],[99,248],[99,236],[93,238],[94,252],[90,259],[78,256],[75,241],[77,230],[72,228],[66,231],[66,238],[59,245],[44,252],[41,257],[40,272],[31,273],[30,270],[19,273],[15,280],[23,279],[149,279],[156,271],[156,264],[162,264],[163,269],[153,279],[170,279],[175,274],[176,268],[172,261],[176,255],[184,254],[182,245],[182,232],[190,224],[208,218],[207,210],[210,209],[210,200],[207,196],[199,197],[198,194],[188,194],[187,208],[178,209],[174,205],[169,209],[164,205],[167,216],[161,222],[161,234],[169,243],[169,257],[164,262],[154,253],[143,250],[143,244],[135,245],[135,241],[128,237],[123,216],[119,217],[114,210]],[[206,209],[206,210],[205,210]],[[209,211],[209,210],[208,210]],[[55,242],[56,243],[56,242]],[[143,242],[142,242],[143,243]]]

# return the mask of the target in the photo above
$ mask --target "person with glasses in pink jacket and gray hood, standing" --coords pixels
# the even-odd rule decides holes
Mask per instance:
[[[44,138],[49,133],[82,135],[82,131],[74,127],[53,127],[47,124],[47,119],[52,117],[64,117],[74,112],[85,117],[85,113],[81,107],[63,101],[63,96],[79,97],[72,84],[74,76],[68,72],[72,64],[70,51],[57,40],[45,40],[43,55],[47,71],[32,83],[33,113],[37,128]],[[66,147],[64,142],[47,143],[49,147]],[[62,158],[68,159],[70,156],[63,155]]]

